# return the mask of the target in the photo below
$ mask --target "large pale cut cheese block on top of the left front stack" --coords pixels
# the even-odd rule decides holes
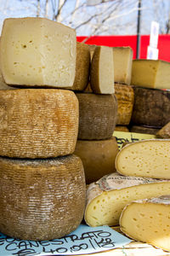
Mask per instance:
[[[45,18],[4,20],[0,66],[7,84],[71,87],[76,71],[76,32]]]

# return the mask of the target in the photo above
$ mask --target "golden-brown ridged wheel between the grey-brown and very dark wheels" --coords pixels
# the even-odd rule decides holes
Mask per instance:
[[[118,105],[116,125],[129,125],[133,113],[133,87],[126,84],[115,84],[115,95]]]

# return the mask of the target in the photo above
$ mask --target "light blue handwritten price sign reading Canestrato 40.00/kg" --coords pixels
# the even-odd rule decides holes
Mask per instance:
[[[75,255],[97,253],[122,247],[131,240],[108,226],[88,227],[81,224],[77,230],[63,238],[51,241],[24,241],[0,233],[0,255]]]

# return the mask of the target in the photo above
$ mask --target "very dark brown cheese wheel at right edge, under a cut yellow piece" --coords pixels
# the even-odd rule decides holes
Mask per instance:
[[[170,121],[170,91],[133,87],[133,125],[161,128]]]

